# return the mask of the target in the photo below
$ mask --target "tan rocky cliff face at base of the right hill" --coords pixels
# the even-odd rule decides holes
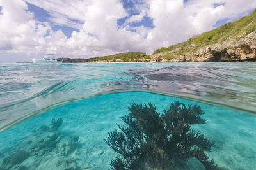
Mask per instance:
[[[189,47],[185,46],[184,48]],[[240,36],[223,43],[205,46],[195,52],[177,55],[173,59],[164,59],[166,55],[175,55],[177,51],[182,49],[156,53],[151,55],[151,60],[152,62],[256,61],[256,31],[244,38]]]

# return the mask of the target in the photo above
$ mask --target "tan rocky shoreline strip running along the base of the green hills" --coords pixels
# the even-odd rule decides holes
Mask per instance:
[[[244,33],[245,34],[245,33]],[[100,59],[95,58],[58,58],[57,61],[62,63],[81,63],[81,62],[97,62],[97,63],[128,63],[128,62],[244,62],[256,61],[256,31],[244,36],[244,34],[236,38],[230,38],[221,43],[207,45],[197,50],[195,44],[176,48],[168,52],[154,53],[152,55],[140,55],[138,59]],[[188,50],[190,49],[190,50]],[[180,50],[188,50],[188,53],[177,55]],[[171,59],[166,59],[167,55],[172,55]],[[150,56],[150,57],[149,57]],[[94,60],[98,58],[98,60]],[[93,60],[92,60],[93,59]],[[17,62],[30,63],[30,62]]]

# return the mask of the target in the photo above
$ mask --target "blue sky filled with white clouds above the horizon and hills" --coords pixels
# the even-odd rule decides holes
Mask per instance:
[[[255,0],[0,0],[0,62],[153,53],[252,12]]]

